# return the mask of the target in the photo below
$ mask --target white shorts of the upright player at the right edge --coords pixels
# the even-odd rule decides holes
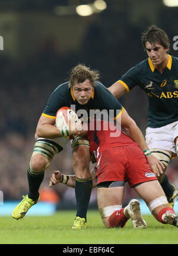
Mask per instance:
[[[174,139],[178,136],[178,121],[167,124],[166,126],[151,128],[148,127],[145,140],[148,148],[160,148],[169,150],[177,155]]]

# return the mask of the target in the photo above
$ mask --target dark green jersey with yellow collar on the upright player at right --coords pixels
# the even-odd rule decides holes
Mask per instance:
[[[128,92],[138,85],[147,93],[148,127],[161,127],[178,120],[178,58],[168,57],[163,74],[147,58],[118,81]]]

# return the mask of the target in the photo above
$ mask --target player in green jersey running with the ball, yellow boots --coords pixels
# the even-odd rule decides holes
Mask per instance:
[[[120,115],[122,118],[127,115],[120,102],[97,81],[98,76],[98,71],[79,64],[72,68],[69,82],[59,85],[50,95],[37,124],[36,143],[27,172],[29,193],[23,196],[24,199],[15,207],[12,212],[13,218],[17,220],[23,218],[30,207],[39,201],[39,188],[44,178],[44,171],[49,167],[53,157],[62,151],[68,142],[68,139],[63,138],[62,132],[55,126],[55,116],[59,108],[75,108],[76,113],[85,110],[88,112],[88,117],[90,117],[90,110],[106,110],[110,117],[117,121]],[[125,129],[134,136],[142,150],[147,149],[144,136],[134,120],[131,118],[127,120]],[[90,145],[86,139],[81,138],[82,130],[69,129],[68,132],[69,135],[80,135],[72,143],[74,146],[72,159],[76,175],[75,196],[77,201],[77,214],[72,228],[83,229],[87,227],[87,208],[93,183],[89,170]],[[159,173],[161,162],[150,154],[148,154],[147,159],[152,170]]]

